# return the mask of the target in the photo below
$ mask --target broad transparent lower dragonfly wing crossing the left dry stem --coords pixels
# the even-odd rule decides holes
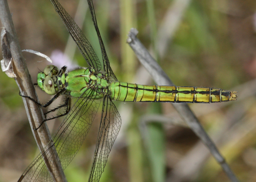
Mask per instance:
[[[60,175],[58,166],[63,170],[68,166],[81,147],[100,106],[102,99],[94,100],[93,92],[92,90],[88,94],[88,98],[80,97],[76,101],[51,142],[27,167],[19,181],[53,181]],[[58,158],[55,158],[54,153],[58,154]],[[47,165],[51,165],[51,172],[48,171]]]

